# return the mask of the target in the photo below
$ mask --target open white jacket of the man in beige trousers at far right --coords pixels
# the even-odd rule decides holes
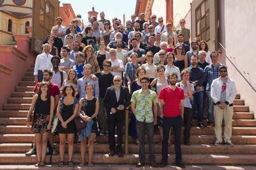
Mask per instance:
[[[220,78],[214,79],[213,83],[211,83],[211,98],[215,103],[220,101],[222,86],[223,81],[221,81]],[[228,78],[228,81],[226,82],[226,101],[228,101],[229,104],[232,104],[235,98],[236,84],[234,83],[233,79]]]

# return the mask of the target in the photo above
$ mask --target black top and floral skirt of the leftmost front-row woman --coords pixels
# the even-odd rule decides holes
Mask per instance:
[[[41,95],[38,95],[38,99],[35,104],[35,115],[32,123],[32,131],[35,134],[48,132],[47,126],[49,123],[49,112],[51,107],[51,98],[42,100]]]

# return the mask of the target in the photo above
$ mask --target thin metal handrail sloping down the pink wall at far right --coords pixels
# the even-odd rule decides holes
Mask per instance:
[[[236,70],[237,71],[239,71],[239,73],[241,73],[241,71],[240,70],[242,70],[242,73],[244,73],[244,75],[246,75],[248,78],[249,78],[249,81],[247,80],[247,79],[245,79],[245,77],[242,75],[242,73],[241,73],[241,75],[242,75],[242,77],[245,79],[245,81],[247,81],[247,83],[253,83],[254,85],[255,85],[255,87],[256,87],[256,83],[255,83],[255,81],[254,81],[254,79],[252,79],[251,77],[250,77],[250,75],[249,75],[249,72],[248,71],[245,71],[242,67],[241,67],[241,65],[239,65],[237,62],[236,62],[236,57],[232,57],[231,55],[229,55],[229,57],[228,57],[228,51],[225,49],[225,47],[220,43],[220,42],[218,42],[218,44],[220,44],[220,46],[224,49],[224,51],[226,52],[226,54],[225,54],[225,56],[226,56],[226,58],[229,60],[229,62],[231,62],[232,64],[233,64],[233,66],[236,68]],[[230,59],[229,59],[230,58]],[[231,60],[233,60],[234,61],[234,63],[236,64],[234,64]],[[237,68],[237,67],[239,67],[239,69]],[[255,89],[255,87],[253,87],[251,84],[250,84],[250,86],[252,87],[252,89],[254,89],[254,91],[256,92],[256,89]]]

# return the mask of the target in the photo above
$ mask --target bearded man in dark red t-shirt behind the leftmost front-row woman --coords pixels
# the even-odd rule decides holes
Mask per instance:
[[[43,81],[48,82],[49,94],[54,97],[54,113],[55,113],[56,108],[58,106],[59,95],[61,94],[61,92],[59,91],[59,86],[57,84],[51,83],[52,76],[53,76],[53,73],[51,72],[51,70],[48,70],[48,69],[43,70]],[[33,89],[34,95],[37,94],[39,85],[40,83],[36,83],[36,86]],[[51,132],[48,133],[48,140],[49,140],[49,143],[51,144],[51,147],[53,148],[54,139],[53,139],[53,134]],[[35,141],[35,138],[34,138],[34,141]],[[32,145],[33,147],[27,153],[25,153],[26,156],[36,154],[35,144],[36,142],[34,142],[34,145]]]

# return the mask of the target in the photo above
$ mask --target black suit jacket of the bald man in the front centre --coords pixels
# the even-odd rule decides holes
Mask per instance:
[[[114,90],[114,86],[108,87],[106,90],[105,98],[104,98],[104,105],[109,115],[111,108],[117,108],[119,105],[124,105],[126,108],[130,105],[130,93],[127,87],[121,86],[120,89],[120,97],[119,100],[116,100],[116,92]],[[124,110],[120,110],[124,111]]]

